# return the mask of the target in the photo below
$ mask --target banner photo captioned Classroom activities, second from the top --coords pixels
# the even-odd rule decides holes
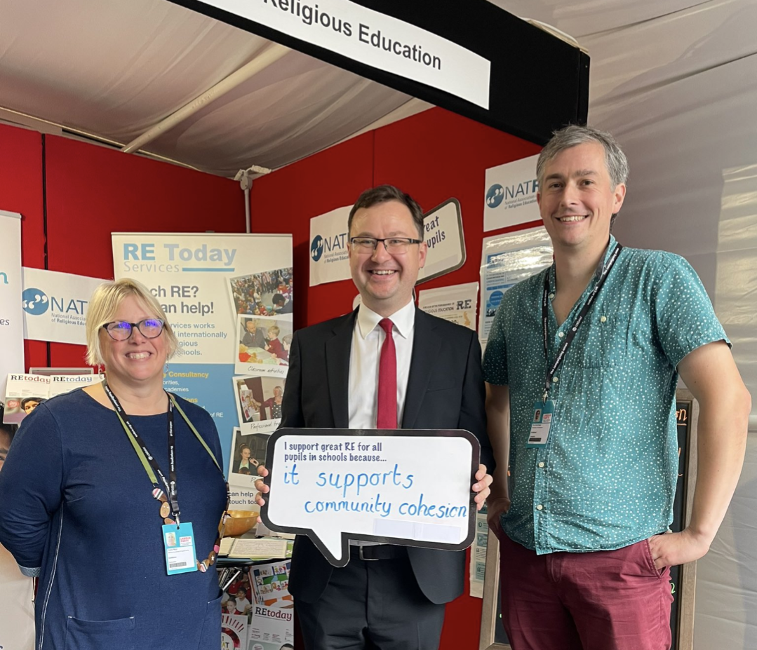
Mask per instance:
[[[237,316],[238,375],[285,377],[291,348],[291,316]]]

